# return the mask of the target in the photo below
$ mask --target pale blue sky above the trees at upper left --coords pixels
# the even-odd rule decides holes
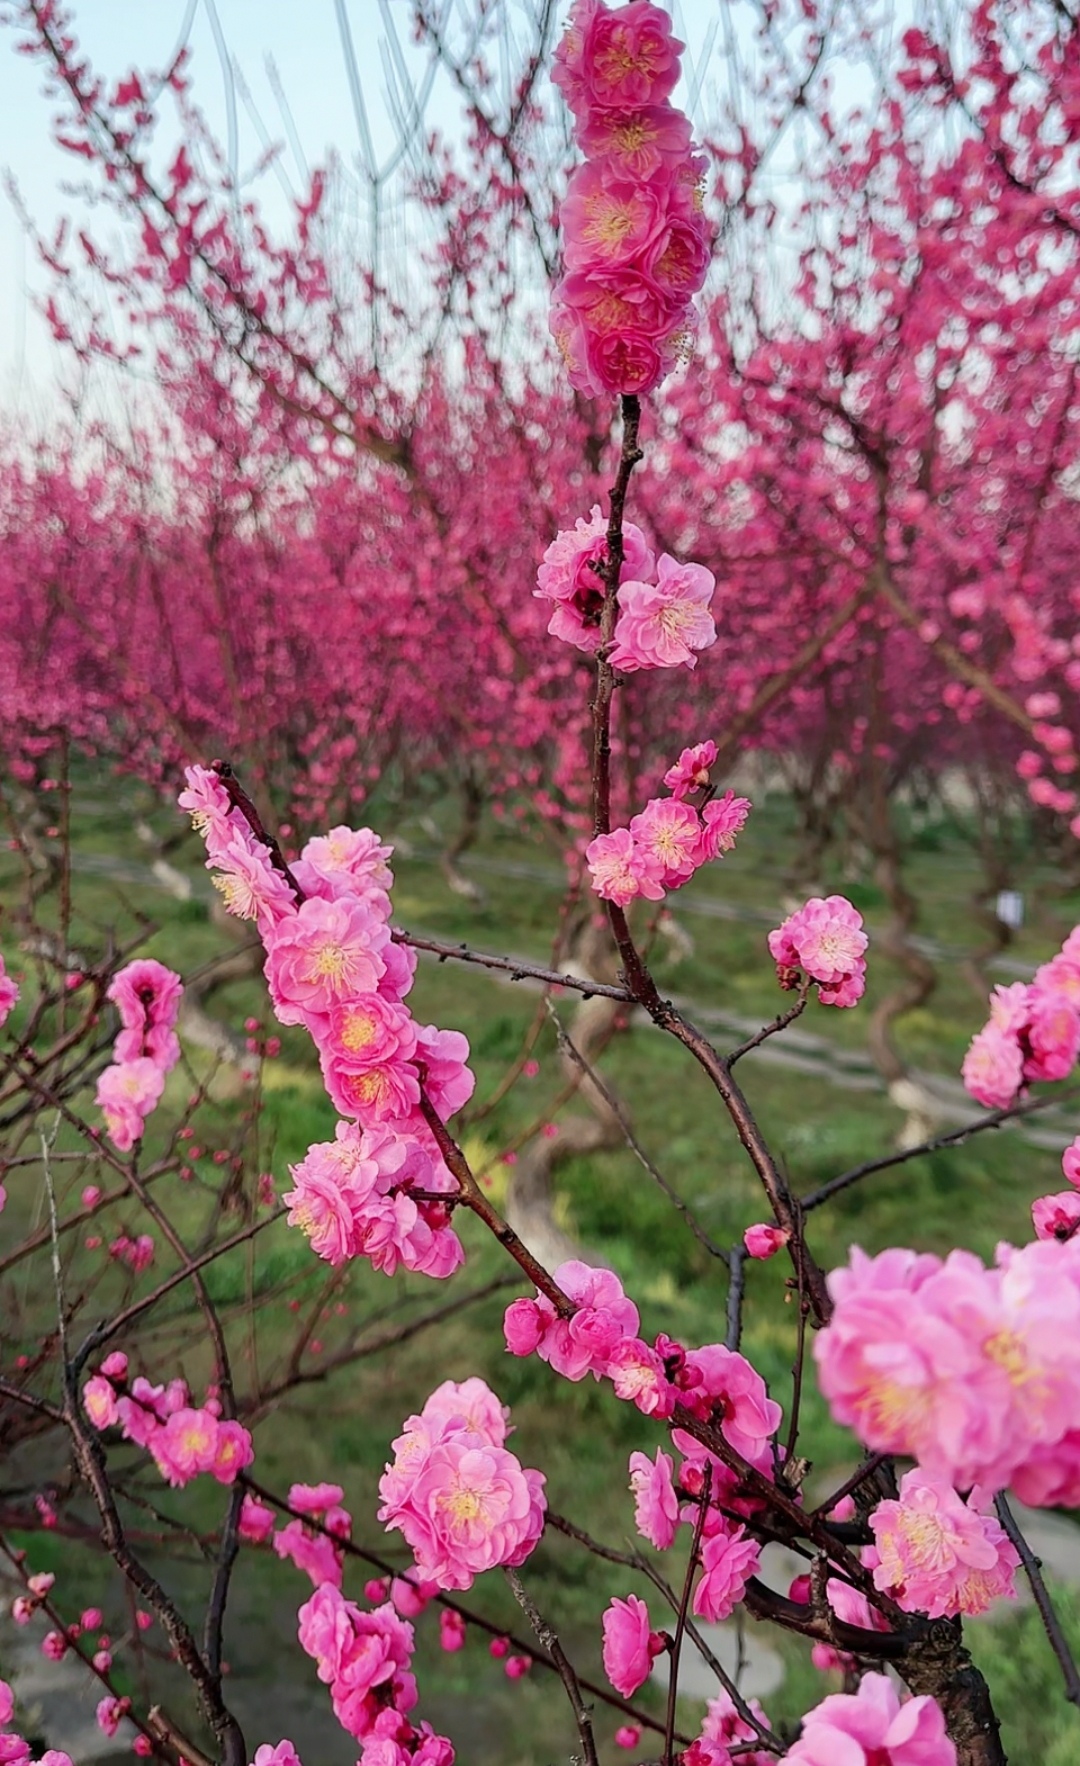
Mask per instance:
[[[182,34],[189,34],[194,94],[219,138],[229,134],[229,101],[236,111],[236,162],[254,166],[261,147],[281,141],[277,170],[259,182],[270,219],[288,214],[286,191],[304,189],[305,170],[335,148],[346,162],[362,154],[362,132],[349,92],[341,30],[348,26],[364,87],[367,125],[376,159],[394,150],[386,58],[392,34],[418,72],[408,41],[408,0],[69,0],[76,37],[95,69],[109,79],[132,67],[161,69]],[[446,5],[457,0],[443,0]],[[505,0],[510,12],[521,0]],[[676,26],[690,55],[715,39],[720,0],[671,0]],[[568,0],[559,5],[559,14]],[[561,23],[561,16],[559,16]],[[42,92],[42,69],[16,53],[18,34],[0,30],[0,168],[18,184],[35,224],[51,233],[69,214],[85,221],[88,208],[72,189],[79,166],[51,143],[53,106]],[[228,76],[229,64],[238,78]],[[282,108],[284,94],[286,108]],[[455,127],[448,90],[436,87],[429,122]],[[116,223],[101,208],[92,224],[108,240]],[[48,277],[11,200],[0,192],[0,417],[34,422],[48,415],[64,378],[64,351],[34,307]]]

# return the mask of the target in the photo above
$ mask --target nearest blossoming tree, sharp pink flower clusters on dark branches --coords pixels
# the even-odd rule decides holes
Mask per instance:
[[[978,23],[988,41],[985,12],[978,11]],[[55,9],[34,0],[30,14],[58,65],[76,85],[85,79],[71,44],[56,37]],[[574,389],[618,401],[621,434],[607,507],[591,516],[582,509],[577,523],[554,539],[545,532],[547,546],[536,544],[531,562],[538,599],[547,604],[552,652],[559,655],[556,646],[565,645],[591,657],[591,839],[582,858],[618,948],[619,977],[600,984],[464,947],[434,948],[446,961],[529,973],[545,989],[602,992],[641,1008],[697,1065],[711,1088],[711,1107],[731,1118],[768,1219],[750,1226],[743,1243],[711,1247],[727,1273],[724,1340],[683,1342],[651,1330],[644,1298],[639,1303],[604,1266],[574,1257],[549,1268],[501,1217],[454,1132],[454,1116],[473,1090],[469,1049],[459,1031],[422,1024],[409,1007],[418,941],[392,924],[390,848],[369,828],[330,825],[332,793],[316,777],[311,804],[326,812],[323,826],[289,858],[228,763],[189,765],[180,807],[205,841],[226,909],[251,922],[277,1024],[309,1038],[337,1114],[334,1139],[307,1146],[291,1162],[291,1189],[282,1203],[274,1203],[272,1185],[258,1171],[258,1111],[251,1109],[233,1148],[221,1150],[228,1183],[203,1197],[198,1231],[189,1231],[191,1220],[178,1224],[178,1185],[194,1176],[196,1153],[185,1150],[194,1134],[191,1116],[205,1104],[201,1091],[150,1166],[143,1150],[182,1058],[176,1015],[184,984],[168,964],[132,952],[104,950],[101,961],[76,964],[67,950],[67,872],[62,938],[51,959],[42,955],[37,975],[19,984],[0,970],[0,1019],[7,1026],[0,1107],[18,1141],[5,1155],[5,1176],[14,1187],[37,1173],[46,1201],[44,1224],[30,1226],[0,1268],[37,1259],[55,1302],[44,1340],[23,1347],[0,1376],[5,1427],[16,1446],[42,1438],[64,1443],[64,1475],[48,1492],[35,1492],[32,1515],[41,1529],[71,1524],[81,1536],[95,1531],[134,1605],[131,1632],[115,1649],[101,1635],[99,1609],[76,1616],[65,1607],[64,1575],[35,1570],[32,1554],[5,1543],[23,1584],[12,1616],[19,1623],[48,1616],[46,1655],[81,1657],[102,1688],[99,1725],[116,1734],[127,1724],[134,1752],[145,1757],[194,1766],[208,1759],[222,1766],[247,1766],[249,1759],[254,1766],[298,1766],[291,1740],[247,1736],[229,1702],[229,1593],[245,1554],[259,1547],[288,1559],[311,1582],[311,1595],[298,1605],[296,1672],[304,1672],[302,1657],[314,1662],[337,1724],[358,1745],[362,1766],[454,1761],[452,1738],[438,1734],[422,1715],[424,1688],[415,1674],[413,1621],[429,1605],[439,1609],[445,1649],[457,1651],[469,1625],[489,1628],[492,1655],[512,1679],[531,1664],[558,1676],[575,1731],[575,1757],[589,1766],[600,1759],[600,1706],[619,1713],[619,1745],[641,1754],[648,1731],[646,1757],[660,1757],[664,1766],[729,1766],[734,1759],[759,1766],[999,1766],[1004,1752],[992,1688],[971,1664],[962,1619],[1008,1596],[1022,1565],[1059,1651],[1066,1692],[1080,1692],[1008,1496],[1011,1491],[1036,1506],[1080,1505],[1078,1146],[1062,1155],[1069,1190],[1036,1204],[1034,1240],[999,1247],[992,1266],[965,1250],[939,1257],[888,1249],[868,1257],[856,1247],[847,1268],[826,1275],[808,1226],[815,1208],[891,1160],[799,1196],[736,1068],[750,1047],[780,1035],[812,1001],[826,1010],[859,1010],[866,975],[861,917],[842,895],[815,895],[773,929],[768,952],[791,1000],[782,1001],[771,1024],[727,1054],[662,996],[649,968],[642,936],[649,909],[637,904],[665,901],[701,867],[722,864],[736,841],[754,839],[752,805],[734,789],[718,788],[724,731],[697,728],[681,751],[672,743],[664,770],[653,775],[646,765],[630,765],[632,756],[612,740],[619,696],[634,691],[648,703],[655,682],[667,680],[674,696],[671,682],[681,687],[697,678],[699,657],[716,646],[722,613],[715,572],[692,555],[694,547],[674,537],[664,549],[655,547],[628,514],[635,468],[649,445],[646,401],[692,346],[694,300],[713,247],[701,201],[704,161],[688,118],[672,104],[679,51],[667,12],[653,0],[618,9],[575,0],[556,51],[556,83],[570,106],[584,164],[561,208],[565,275],[554,290],[552,332]],[[911,53],[926,53],[923,39]],[[1066,42],[1061,58],[1068,60],[1068,53]],[[1069,72],[1073,65],[1075,57]],[[983,69],[983,78],[992,72]],[[934,78],[944,78],[939,67]],[[90,97],[92,113],[94,102]],[[122,108],[141,102],[141,90],[115,101]],[[124,154],[127,147],[113,127],[108,152]],[[995,147],[999,159],[1011,152],[1013,143]],[[134,175],[131,164],[127,170]],[[1009,161],[1009,170],[1024,185],[1031,168]],[[175,168],[173,210],[185,182]],[[173,210],[166,205],[176,224]],[[1061,224],[1057,212],[1054,224]],[[189,260],[217,274],[208,260],[212,242],[198,235],[198,215],[189,214],[185,226]],[[236,290],[233,298],[240,298]],[[251,316],[261,320],[254,307]],[[282,364],[275,355],[279,339],[259,323],[247,344],[270,351],[272,360],[259,367],[279,403],[282,394],[293,397],[298,383],[311,396],[309,360],[293,355]],[[281,374],[286,381],[279,381]],[[784,399],[782,373],[775,385]],[[323,417],[332,415],[330,401]],[[856,427],[851,411],[847,426]],[[365,447],[376,457],[394,454],[395,445],[378,427],[367,433]],[[859,445],[863,463],[872,463],[872,442],[863,436]],[[397,456],[394,463],[404,466]],[[865,473],[856,482],[865,484]],[[651,525],[667,532],[656,516],[665,493],[653,496]],[[468,503],[466,519],[473,510]],[[891,562],[893,546],[888,500],[884,516],[881,567]],[[517,544],[524,549],[531,537]],[[895,590],[884,599],[907,629],[904,593]],[[964,608],[955,609],[956,618],[965,616]],[[826,629],[826,643],[854,611]],[[949,641],[925,627],[926,620],[916,618],[921,641],[930,648],[944,643],[955,662]],[[956,646],[956,655],[974,648]],[[1054,657],[1062,662],[1057,652]],[[990,673],[974,662],[964,668],[969,675],[978,669],[976,691],[986,694]],[[559,680],[561,694],[581,676],[575,664],[566,675],[556,666],[551,678]],[[238,703],[245,691],[236,678]],[[1011,696],[995,691],[1015,717]],[[702,726],[706,705],[694,703]],[[1066,726],[1043,724],[1043,717],[1057,717],[1048,703],[1038,713],[1020,708],[1018,715],[1039,719],[1031,735],[1046,756],[1071,758],[1071,738],[1066,743],[1048,735]],[[570,752],[568,745],[563,761]],[[348,756],[339,759],[344,765]],[[1039,758],[1032,777],[1041,768]],[[646,796],[639,789],[644,777],[662,777],[664,789]],[[1057,807],[1066,812],[1064,804]],[[432,941],[425,945],[432,948]],[[990,1023],[965,1061],[967,1086],[992,1114],[965,1134],[1025,1111],[1031,1083],[1055,1081],[1073,1068],[1080,1047],[1075,945],[1076,934],[1031,984],[995,991]],[[258,1021],[251,1033],[252,1053],[270,1058],[275,1037],[266,1037]],[[577,1060],[588,1068],[581,1051]],[[94,1116],[79,1097],[90,1077]],[[598,1083],[591,1070],[589,1079]],[[30,1132],[37,1144],[21,1153],[18,1146]],[[62,1160],[79,1174],[94,1162],[111,1190],[86,1183],[76,1197],[62,1181]],[[224,1197],[240,1213],[240,1226],[233,1226]],[[116,1203],[131,1217],[129,1229],[106,1252],[109,1277],[120,1273],[120,1294],[97,1279],[79,1286],[79,1270],[67,1254],[74,1236]],[[379,1480],[378,1517],[365,1517],[358,1538],[344,1489],[332,1482],[334,1464],[316,1483],[277,1489],[261,1469],[258,1427],[277,1395],[316,1377],[305,1376],[304,1349],[323,1314],[298,1326],[277,1381],[254,1379],[244,1392],[212,1270],[256,1243],[282,1215],[307,1240],[298,1249],[312,1266],[321,1261],[328,1268],[328,1284],[335,1272],[364,1259],[386,1279],[404,1270],[459,1286],[468,1280],[461,1275],[462,1222],[471,1217],[491,1234],[508,1259],[510,1280],[528,1289],[505,1307],[506,1353],[545,1363],[552,1393],[565,1392],[559,1383],[604,1383],[628,1408],[634,1430],[641,1429],[635,1439],[642,1445],[630,1453],[626,1473],[637,1533],[655,1556],[639,1549],[612,1554],[574,1521],[551,1512],[544,1469],[524,1464],[506,1445],[506,1408],[478,1376],[432,1381],[420,1411],[399,1420]],[[136,1226],[141,1231],[131,1229]],[[101,1240],[85,1245],[104,1252]],[[159,1245],[168,1247],[168,1273],[143,1280]],[[794,1383],[782,1395],[741,1353],[746,1261],[768,1257],[782,1257],[789,1270]],[[97,1286],[108,1294],[108,1309],[92,1323]],[[194,1330],[210,1355],[210,1377],[201,1388],[178,1372],[192,1323],[169,1302],[187,1289]],[[328,1286],[326,1298],[332,1293]],[[386,1355],[406,1330],[438,1324],[478,1296],[466,1291],[461,1300],[438,1303],[418,1323],[401,1326],[397,1339],[383,1332],[364,1344],[346,1342],[339,1365]],[[249,1277],[249,1305],[254,1300],[256,1282]],[[863,1448],[852,1476],[815,1506],[805,1494],[806,1443],[799,1432],[808,1358],[835,1422],[849,1427]],[[898,1475],[896,1459],[914,1464]],[[201,1513],[196,1501],[214,1485],[228,1492],[212,1528],[184,1522],[185,1538],[196,1540],[208,1565],[201,1626],[187,1616],[168,1575],[148,1563],[138,1517],[146,1508],[154,1521],[161,1515],[132,1487],[132,1464],[152,1464],[169,1487],[191,1492],[192,1517]],[[88,1505],[94,1521],[86,1519]],[[32,1515],[19,1512],[23,1528]],[[367,1543],[376,1519],[390,1535],[390,1545],[381,1549]],[[604,1683],[579,1672],[554,1618],[529,1593],[529,1559],[549,1528],[565,1531],[582,1551],[614,1556],[626,1582],[635,1577],[648,1589],[649,1600],[626,1586],[596,1614]],[[409,1552],[404,1563],[388,1556],[397,1535]],[[762,1575],[762,1551],[771,1542],[784,1542],[806,1563],[785,1591]],[[379,1572],[364,1584],[356,1581],[360,1561]],[[501,1625],[485,1619],[485,1584],[476,1591],[475,1584],[491,1572],[501,1572],[512,1589],[524,1639],[510,1639]],[[459,1595],[469,1595],[469,1604]],[[665,1623],[656,1621],[662,1605]],[[701,1639],[699,1619],[724,1621],[736,1609],[812,1642],[822,1671],[840,1669],[844,1690],[815,1702],[796,1729],[780,1729],[743,1695],[738,1678],[715,1664],[716,1697],[699,1732],[686,1734],[678,1711],[685,1639]],[[154,1625],[162,1628],[166,1655],[192,1688],[194,1711],[125,1690],[125,1651],[134,1657],[141,1632]],[[662,1717],[648,1701],[637,1702],[658,1658],[669,1662]],[[0,1722],[4,1757],[30,1761],[34,1748],[7,1683],[0,1685]],[[67,1759],[56,1750],[39,1757],[48,1766]]]

